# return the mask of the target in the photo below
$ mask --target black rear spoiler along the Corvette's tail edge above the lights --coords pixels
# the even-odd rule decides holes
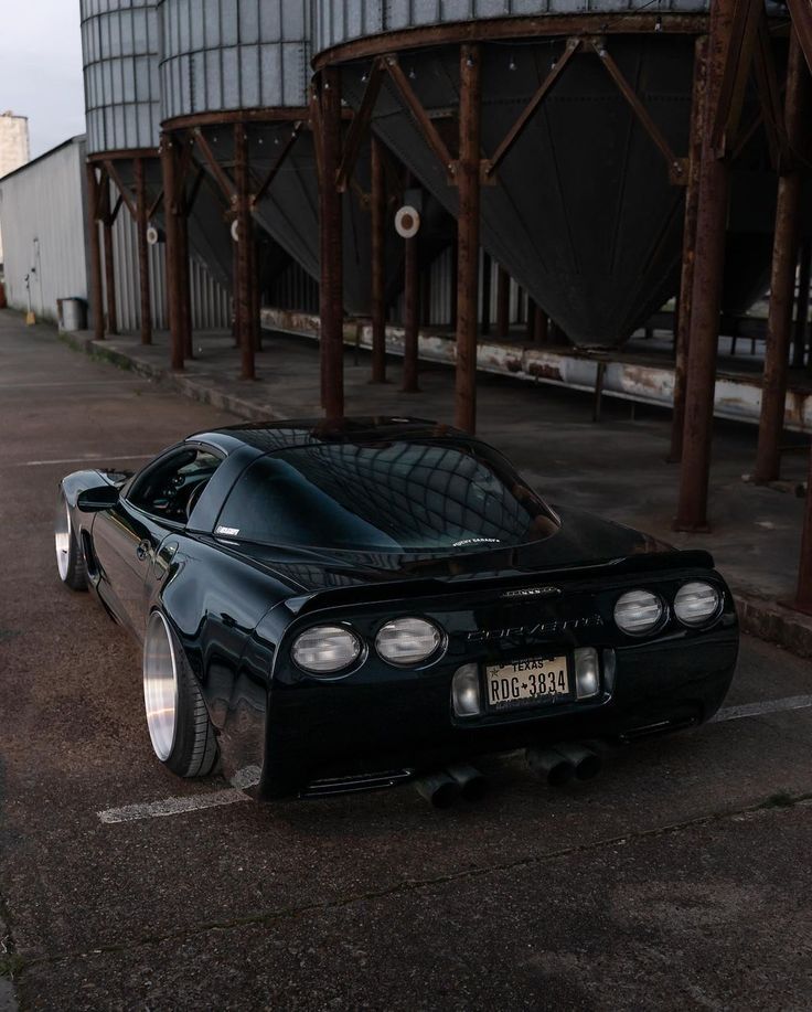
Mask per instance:
[[[661,573],[667,569],[713,569],[714,560],[709,552],[651,552],[641,555],[626,555],[586,566],[558,566],[549,569],[525,569],[509,575],[483,576],[464,574],[448,577],[391,579],[385,583],[361,584],[338,587],[330,590],[314,590],[290,597],[286,607],[293,615],[304,615],[321,608],[348,604],[375,604],[400,597],[437,597],[448,594],[476,594],[483,590],[511,590],[526,587],[530,583],[554,580],[566,586],[568,583],[628,576],[635,573]]]

